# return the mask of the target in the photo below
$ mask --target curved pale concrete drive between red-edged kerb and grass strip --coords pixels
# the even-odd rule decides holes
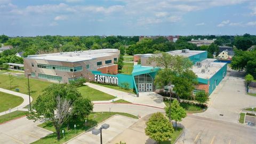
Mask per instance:
[[[95,104],[93,106],[93,111],[112,111],[112,112],[120,112],[120,113],[128,113],[135,116],[146,116],[148,114],[156,113],[156,112],[164,112],[164,109],[140,106],[140,105],[132,105],[132,104],[124,104],[124,103],[100,103]]]

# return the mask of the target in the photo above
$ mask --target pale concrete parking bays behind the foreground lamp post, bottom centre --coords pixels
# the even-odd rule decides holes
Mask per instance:
[[[122,133],[125,129],[130,127],[133,123],[137,122],[138,119],[115,115],[110,117],[105,122],[94,126],[93,129],[99,129],[102,124],[109,124],[108,129],[102,129],[102,143],[108,143],[108,141],[115,138],[118,134]],[[69,140],[67,143],[90,143],[90,144],[98,144],[100,143],[100,134],[94,135],[92,134],[92,130],[86,131],[77,137]]]

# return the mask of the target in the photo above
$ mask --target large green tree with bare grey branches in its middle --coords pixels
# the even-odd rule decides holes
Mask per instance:
[[[49,119],[55,127],[59,140],[62,124],[74,120],[74,117],[89,115],[92,106],[91,101],[83,98],[73,85],[53,84],[46,87],[39,95],[27,117],[34,121]]]

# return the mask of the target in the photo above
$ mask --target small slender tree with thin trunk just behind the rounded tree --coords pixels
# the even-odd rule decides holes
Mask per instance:
[[[169,117],[170,107],[165,107],[166,116]],[[171,105],[171,118],[175,121],[175,130],[177,130],[177,121],[180,122],[182,118],[187,116],[186,110],[183,109],[178,100],[173,100]]]

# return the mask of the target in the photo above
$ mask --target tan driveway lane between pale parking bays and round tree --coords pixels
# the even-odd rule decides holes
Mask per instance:
[[[146,143],[155,144],[156,142],[150,139],[145,134],[146,122],[150,115],[142,117],[138,122],[131,125],[128,129],[124,130],[121,134],[117,135],[113,140],[108,143],[119,143],[120,141],[128,143]]]

